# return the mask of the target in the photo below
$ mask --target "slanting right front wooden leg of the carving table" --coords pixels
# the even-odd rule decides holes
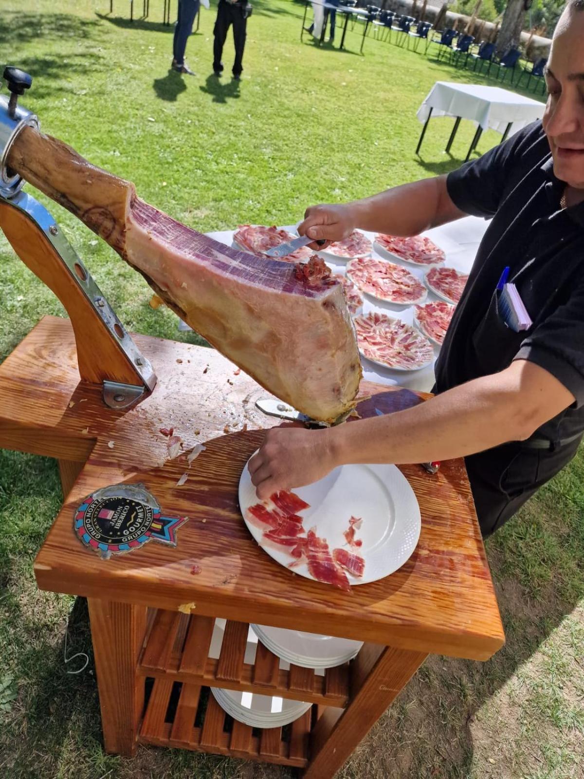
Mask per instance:
[[[426,657],[366,643],[354,661],[347,708],[327,707],[315,724],[304,779],[332,779]]]

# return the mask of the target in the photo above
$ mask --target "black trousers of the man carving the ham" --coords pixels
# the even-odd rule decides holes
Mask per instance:
[[[505,443],[465,458],[480,530],[491,535],[537,490],[567,465],[580,439],[550,449]]]

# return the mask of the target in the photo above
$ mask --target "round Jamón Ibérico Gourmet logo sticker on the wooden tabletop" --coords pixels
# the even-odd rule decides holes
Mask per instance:
[[[130,552],[153,538],[176,546],[176,530],[186,517],[163,516],[142,484],[112,485],[89,495],[75,513],[75,530],[83,544],[104,559]]]

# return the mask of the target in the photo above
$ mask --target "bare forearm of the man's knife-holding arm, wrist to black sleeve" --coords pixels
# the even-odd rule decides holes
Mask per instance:
[[[361,230],[392,235],[417,235],[464,216],[449,198],[445,176],[393,187],[349,205]]]

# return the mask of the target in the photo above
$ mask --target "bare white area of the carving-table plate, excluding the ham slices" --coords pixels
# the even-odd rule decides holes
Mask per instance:
[[[350,584],[367,584],[389,576],[410,557],[420,538],[420,506],[406,477],[395,465],[343,465],[325,478],[294,492],[310,506],[301,512],[304,529],[316,527],[329,549],[347,548],[343,533],[351,516],[362,517],[357,538],[363,545],[356,551],[365,561],[361,578],[347,573]],[[259,502],[245,464],[239,480],[239,506],[249,532],[259,546],[282,566],[294,559],[284,550],[264,545],[262,529],[248,522],[247,511]],[[313,579],[306,562],[294,566],[294,573]],[[324,585],[323,586],[330,586]]]

